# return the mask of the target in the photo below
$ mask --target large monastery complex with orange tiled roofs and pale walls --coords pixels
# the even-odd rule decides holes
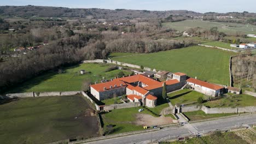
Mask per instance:
[[[183,73],[174,73],[173,75],[177,75],[177,77],[164,82],[156,81],[141,74],[132,75],[91,85],[90,90],[91,94],[98,100],[126,94],[127,99],[131,102],[141,102],[143,106],[154,107],[158,97],[161,97],[164,83],[166,83],[167,93],[176,91],[185,85],[183,77],[187,77],[187,75]]]

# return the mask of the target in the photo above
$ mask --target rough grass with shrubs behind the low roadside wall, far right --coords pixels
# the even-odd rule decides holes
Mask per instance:
[[[204,104],[210,107],[237,107],[237,106],[256,106],[256,97],[247,94],[233,95],[222,99],[208,101]]]

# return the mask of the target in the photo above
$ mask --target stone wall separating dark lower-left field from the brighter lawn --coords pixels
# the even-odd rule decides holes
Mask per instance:
[[[31,97],[49,97],[49,96],[67,96],[81,93],[80,91],[70,92],[29,92],[29,93],[8,93],[0,96],[0,99],[13,98],[31,98]]]

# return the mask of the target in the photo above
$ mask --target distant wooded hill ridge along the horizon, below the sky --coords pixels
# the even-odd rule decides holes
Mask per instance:
[[[188,10],[127,10],[127,9],[71,9],[63,7],[40,7],[40,6],[1,6],[0,15],[19,17],[93,17],[95,19],[133,19],[133,18],[165,18],[170,15],[189,16],[200,13]]]

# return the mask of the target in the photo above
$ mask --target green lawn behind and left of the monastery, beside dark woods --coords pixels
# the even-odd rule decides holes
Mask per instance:
[[[7,93],[16,92],[54,92],[54,91],[80,91],[84,80],[92,80],[94,83],[105,79],[114,78],[121,70],[106,70],[110,66],[102,64],[79,64],[65,69],[65,73],[59,74],[57,71],[51,71],[28,80],[18,87],[10,89]],[[80,75],[80,70],[84,69],[88,74]],[[130,71],[123,70],[126,75]]]

